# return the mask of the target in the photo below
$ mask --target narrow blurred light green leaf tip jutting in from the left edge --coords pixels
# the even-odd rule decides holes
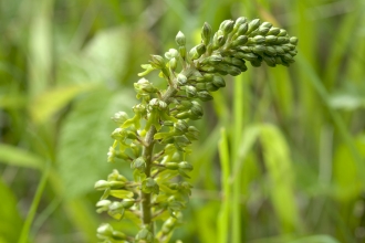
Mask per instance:
[[[4,144],[0,144],[0,162],[32,169],[41,169],[43,166],[43,160],[39,156]]]

